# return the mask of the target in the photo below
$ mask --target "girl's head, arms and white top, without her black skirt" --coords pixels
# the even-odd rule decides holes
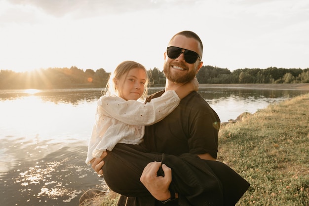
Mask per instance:
[[[175,91],[166,91],[151,103],[138,102],[138,99],[147,96],[148,81],[147,71],[139,63],[125,61],[117,66],[110,76],[105,95],[98,101],[87,164],[104,151],[112,151],[117,143],[141,143],[145,125],[163,119],[178,106],[180,99],[198,89],[194,79]]]

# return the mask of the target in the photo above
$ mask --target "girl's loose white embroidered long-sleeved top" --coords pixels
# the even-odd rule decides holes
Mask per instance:
[[[112,151],[116,143],[139,144],[145,125],[159,122],[180,103],[174,90],[166,91],[150,103],[104,95],[98,100],[95,124],[88,144],[86,164],[103,151]]]

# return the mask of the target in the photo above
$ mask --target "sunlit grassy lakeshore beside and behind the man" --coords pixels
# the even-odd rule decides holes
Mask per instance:
[[[236,206],[309,206],[309,94],[223,126],[218,160],[251,184]]]

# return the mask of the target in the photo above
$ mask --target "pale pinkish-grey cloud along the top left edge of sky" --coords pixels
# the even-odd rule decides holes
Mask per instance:
[[[199,0],[0,0],[0,26],[190,8]],[[179,14],[180,15],[180,14]]]

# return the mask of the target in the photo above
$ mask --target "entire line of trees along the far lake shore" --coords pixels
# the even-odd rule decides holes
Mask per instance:
[[[157,68],[148,70],[151,86],[164,86],[165,75]],[[48,68],[26,72],[0,70],[0,89],[104,88],[110,72],[104,69]],[[203,66],[196,75],[200,84],[309,83],[309,68],[222,69]]]

